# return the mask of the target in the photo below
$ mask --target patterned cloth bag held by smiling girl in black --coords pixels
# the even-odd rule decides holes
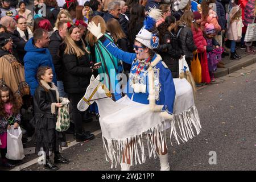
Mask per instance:
[[[69,100],[65,97],[60,97],[60,102],[63,105],[58,109],[56,130],[59,132],[67,131],[70,126],[70,117],[69,117]]]

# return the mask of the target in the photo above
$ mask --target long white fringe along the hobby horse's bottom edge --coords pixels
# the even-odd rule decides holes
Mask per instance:
[[[176,143],[180,144],[180,141],[185,143],[188,139],[195,137],[195,133],[193,131],[194,129],[196,130],[197,135],[200,133],[201,124],[195,106],[191,107],[191,109],[187,111],[184,111],[183,113],[173,114],[173,117],[174,118],[171,120],[166,120],[166,122],[168,121],[171,124],[171,144],[172,136],[174,136]],[[123,161],[127,163],[127,159],[129,158],[130,166],[133,166],[134,162],[135,164],[137,164],[137,162],[139,164],[146,162],[143,137],[145,137],[147,141],[149,158],[151,158],[153,155],[156,159],[158,155],[156,152],[156,147],[158,147],[159,151],[164,151],[164,143],[166,143],[166,131],[163,131],[163,129],[165,128],[165,124],[165,122],[159,123],[158,125],[145,131],[146,133],[121,140],[108,140],[102,135],[105,157],[107,161],[108,159],[110,160],[111,168],[113,168],[114,162],[115,167],[117,167],[117,163],[122,164]],[[154,141],[155,139],[156,142]],[[123,159],[123,154],[125,154],[125,159]]]

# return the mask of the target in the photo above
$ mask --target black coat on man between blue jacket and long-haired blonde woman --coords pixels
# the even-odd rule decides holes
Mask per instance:
[[[60,44],[63,42],[59,31],[55,31],[53,32],[53,34],[49,37],[50,42],[49,42],[49,52],[52,55],[52,61],[53,61],[53,65],[55,68],[55,73],[57,75],[57,80],[62,80],[63,75],[65,75],[64,72],[64,65],[63,65],[63,61],[61,60],[61,56],[59,55],[59,48],[60,48]]]

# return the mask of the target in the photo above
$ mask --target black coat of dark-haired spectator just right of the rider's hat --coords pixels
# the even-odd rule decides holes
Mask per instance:
[[[166,63],[167,67],[172,72],[173,78],[179,77],[179,59],[181,57],[181,50],[179,49],[176,36],[167,32],[163,36],[163,44],[159,46],[156,51],[162,57],[164,63]]]

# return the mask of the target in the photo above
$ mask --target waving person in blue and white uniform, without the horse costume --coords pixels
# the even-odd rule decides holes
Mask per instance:
[[[90,22],[88,30],[117,59],[131,64],[129,81],[123,92],[135,102],[149,104],[151,111],[161,111],[160,115],[163,118],[171,119],[173,117],[175,85],[170,69],[162,61],[160,55],[152,51],[159,44],[159,38],[155,31],[156,21],[152,16],[154,14],[149,13],[149,16],[144,20],[144,26],[135,38],[135,53],[124,52],[108,38],[105,38],[105,35],[101,33],[100,23],[96,26],[94,22]],[[170,170],[166,143],[164,143],[164,150],[161,151],[156,148],[156,151],[159,154],[161,170]],[[123,160],[121,169],[130,170],[129,154],[128,156],[127,154],[123,155],[127,161]]]

